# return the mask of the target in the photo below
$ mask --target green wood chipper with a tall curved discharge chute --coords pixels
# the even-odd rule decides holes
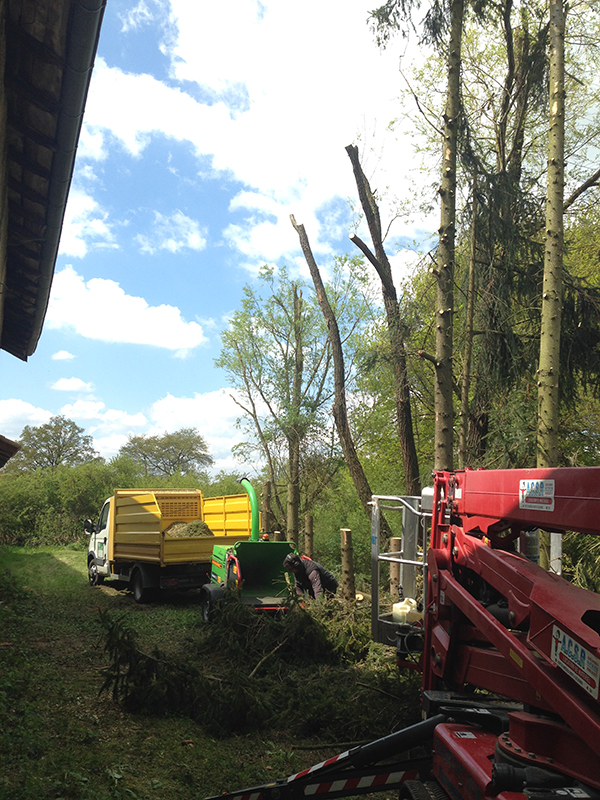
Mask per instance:
[[[283,560],[294,552],[294,545],[260,536],[256,493],[245,478],[241,483],[250,498],[252,529],[247,539],[233,544],[219,542],[213,547],[210,582],[200,592],[202,616],[207,621],[228,590],[235,590],[244,605],[261,611],[284,610],[289,601],[290,587]]]

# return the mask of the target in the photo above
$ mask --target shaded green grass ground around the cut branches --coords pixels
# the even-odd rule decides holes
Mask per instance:
[[[230,654],[238,652],[240,642],[250,640],[234,640],[233,628],[231,636],[223,627],[211,631],[200,621],[199,611],[197,594],[137,606],[128,592],[108,584],[89,587],[80,550],[0,547],[1,800],[202,800],[226,789],[284,777],[333,755],[347,741],[344,733],[363,731],[362,718],[345,725],[352,723],[355,709],[363,715],[373,711],[364,716],[364,739],[385,735],[390,725],[399,724],[400,716],[414,713],[414,682],[402,684],[411,696],[398,704],[395,715],[385,711],[392,704],[381,689],[360,688],[373,675],[383,676],[377,686],[401,688],[390,671],[391,654],[377,647],[367,648],[360,663],[352,664],[350,656],[340,656],[338,636],[332,645],[337,648],[333,662],[312,670],[308,666],[306,672],[296,668],[293,651],[286,661],[282,647],[249,681],[264,651],[256,649],[258,644],[254,650],[245,644],[243,657],[234,658]],[[184,660],[202,675],[226,680],[243,675],[244,686],[265,692],[281,684],[282,676],[284,685],[293,679],[289,696],[300,693],[305,698],[300,718],[315,713],[311,700],[316,698],[313,705],[323,703],[333,720],[321,732],[331,749],[317,749],[323,741],[308,738],[302,725],[294,724],[293,713],[288,724],[285,714],[279,714],[273,716],[272,726],[263,720],[260,726],[227,736],[215,729],[214,721],[211,729],[202,715],[192,718],[181,709],[159,715],[145,707],[128,713],[110,693],[99,695],[109,666],[107,632],[99,612],[130,626],[144,653],[160,651],[165,660]],[[333,630],[331,607],[316,612],[317,623]],[[342,613],[347,617],[347,610]],[[245,636],[248,625],[259,624],[245,618],[234,623]],[[341,625],[353,630],[348,617]],[[278,630],[273,628],[275,634]],[[261,635],[268,650],[272,641],[267,633]],[[351,639],[344,640],[349,653],[356,649]],[[307,676],[312,683],[305,688]],[[355,682],[348,687],[350,694],[339,686],[336,690],[340,680]],[[352,704],[348,697],[354,698]],[[344,725],[336,728],[338,718]]]

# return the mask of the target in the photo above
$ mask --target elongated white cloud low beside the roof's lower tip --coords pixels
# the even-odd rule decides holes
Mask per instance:
[[[208,340],[197,322],[186,322],[178,308],[150,306],[127,295],[115,281],[84,281],[68,266],[54,276],[48,328],[74,328],[88,339],[126,342],[188,352]]]

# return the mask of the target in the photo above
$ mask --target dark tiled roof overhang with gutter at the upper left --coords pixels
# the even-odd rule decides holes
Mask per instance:
[[[0,348],[26,361],[48,307],[106,0],[5,5],[7,241],[6,254],[0,254],[6,259]]]

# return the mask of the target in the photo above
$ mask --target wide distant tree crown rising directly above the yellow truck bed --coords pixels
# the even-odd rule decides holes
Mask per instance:
[[[146,476],[193,473],[213,463],[204,438],[195,428],[161,436],[130,436],[119,456],[130,458]]]

